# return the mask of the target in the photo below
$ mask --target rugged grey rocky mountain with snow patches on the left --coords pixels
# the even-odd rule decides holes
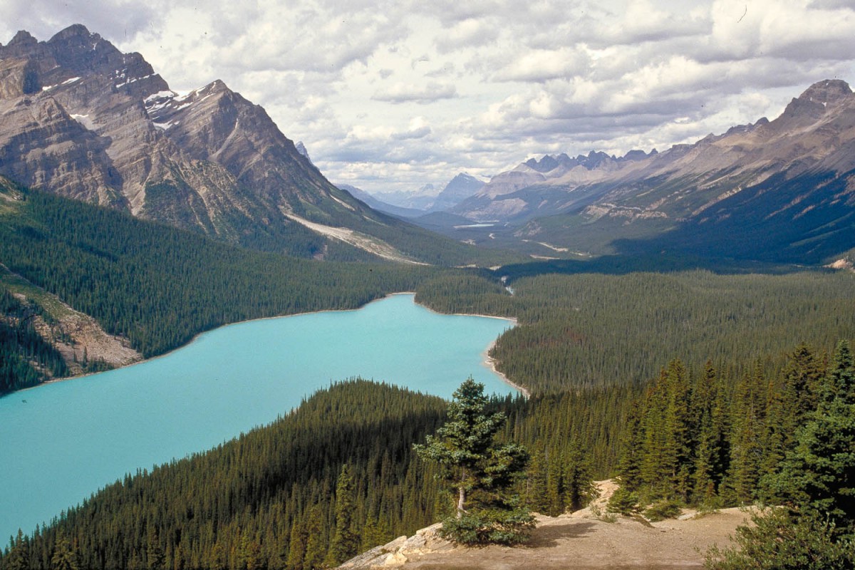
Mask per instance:
[[[425,244],[463,247],[339,190],[222,81],[176,93],[84,26],[0,44],[0,118],[0,175],[37,190],[298,256],[425,261]]]

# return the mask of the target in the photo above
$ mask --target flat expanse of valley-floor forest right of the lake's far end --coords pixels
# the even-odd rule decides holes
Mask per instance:
[[[475,274],[445,275],[416,301],[516,316],[491,356],[535,392],[638,383],[677,356],[721,369],[759,360],[770,371],[801,342],[830,347],[855,332],[851,272],[546,274],[510,286],[512,296]]]

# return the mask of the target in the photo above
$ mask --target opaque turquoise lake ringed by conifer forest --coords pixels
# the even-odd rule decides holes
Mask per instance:
[[[355,376],[451,397],[486,367],[508,320],[436,314],[412,295],[354,311],[252,320],[167,356],[0,398],[0,544],[140,467],[181,458],[286,414]]]

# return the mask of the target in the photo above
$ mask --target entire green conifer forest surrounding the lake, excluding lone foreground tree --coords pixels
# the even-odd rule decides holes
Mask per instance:
[[[822,548],[844,552],[834,554],[838,567],[852,561],[852,273],[521,273],[503,282],[501,270],[251,252],[38,193],[18,209],[0,210],[3,265],[144,356],[227,322],[352,308],[394,291],[416,291],[443,312],[516,317],[491,356],[531,397],[488,407],[506,418],[498,440],[530,455],[516,483],[528,508],[581,508],[593,480],[614,477],[618,512],[784,505],[786,520],[767,519],[770,534],[812,529]],[[9,291],[0,303],[0,391],[65,373],[28,325],[50,314]],[[413,449],[445,409],[361,379],[332,385],[270,426],[128,474],[20,532],[0,568],[333,566],[453,512],[437,468]],[[745,538],[746,550],[758,540]],[[721,557],[722,567],[738,564]]]

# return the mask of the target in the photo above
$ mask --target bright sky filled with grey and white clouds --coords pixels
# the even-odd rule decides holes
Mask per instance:
[[[0,0],[0,42],[82,23],[175,91],[222,79],[333,182],[437,190],[531,156],[663,150],[855,85],[851,0]]]

